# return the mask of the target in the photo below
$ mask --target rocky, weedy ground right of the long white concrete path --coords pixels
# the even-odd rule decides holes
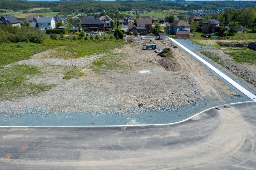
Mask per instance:
[[[222,50],[200,50],[208,52],[208,55],[218,56],[219,64],[228,70],[232,76],[246,81],[248,86],[256,91],[256,64],[250,63],[237,63],[233,60],[232,56],[225,54]],[[206,55],[206,56],[208,56]]]

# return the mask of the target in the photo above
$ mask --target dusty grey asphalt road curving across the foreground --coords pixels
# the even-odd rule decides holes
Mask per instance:
[[[0,128],[0,169],[255,170],[255,108],[240,103],[176,125],[122,130]]]

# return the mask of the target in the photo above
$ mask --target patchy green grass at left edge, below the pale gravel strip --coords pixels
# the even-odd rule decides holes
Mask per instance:
[[[55,86],[27,82],[30,77],[39,74],[41,72],[35,66],[0,67],[0,99],[37,95]]]

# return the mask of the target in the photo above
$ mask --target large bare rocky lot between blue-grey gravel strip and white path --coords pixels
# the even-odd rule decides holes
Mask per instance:
[[[90,69],[91,63],[106,54],[68,60],[45,57],[52,50],[15,63],[36,65],[43,71],[43,75],[29,81],[56,86],[38,96],[0,101],[0,110],[20,112],[24,108],[44,108],[56,112],[121,110],[121,113],[139,113],[164,107],[177,109],[203,97],[223,100],[236,95],[211,72],[167,41],[152,38],[129,42],[112,51],[125,55],[115,62],[129,66],[128,70],[106,69],[104,74],[98,74]],[[162,58],[154,51],[143,50],[143,44],[151,42],[161,48],[170,47],[174,58]],[[79,67],[84,76],[64,80],[62,70],[68,67]],[[150,73],[140,73],[142,70]]]

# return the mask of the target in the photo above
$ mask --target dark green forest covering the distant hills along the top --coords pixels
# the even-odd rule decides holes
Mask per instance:
[[[20,0],[0,0],[0,9],[29,10],[31,8],[50,8],[60,14],[70,14],[75,12],[91,13],[101,11],[130,11],[138,10],[215,10],[223,7],[236,9],[256,6],[256,1],[92,1],[92,0],[70,0],[70,1],[20,1]]]

